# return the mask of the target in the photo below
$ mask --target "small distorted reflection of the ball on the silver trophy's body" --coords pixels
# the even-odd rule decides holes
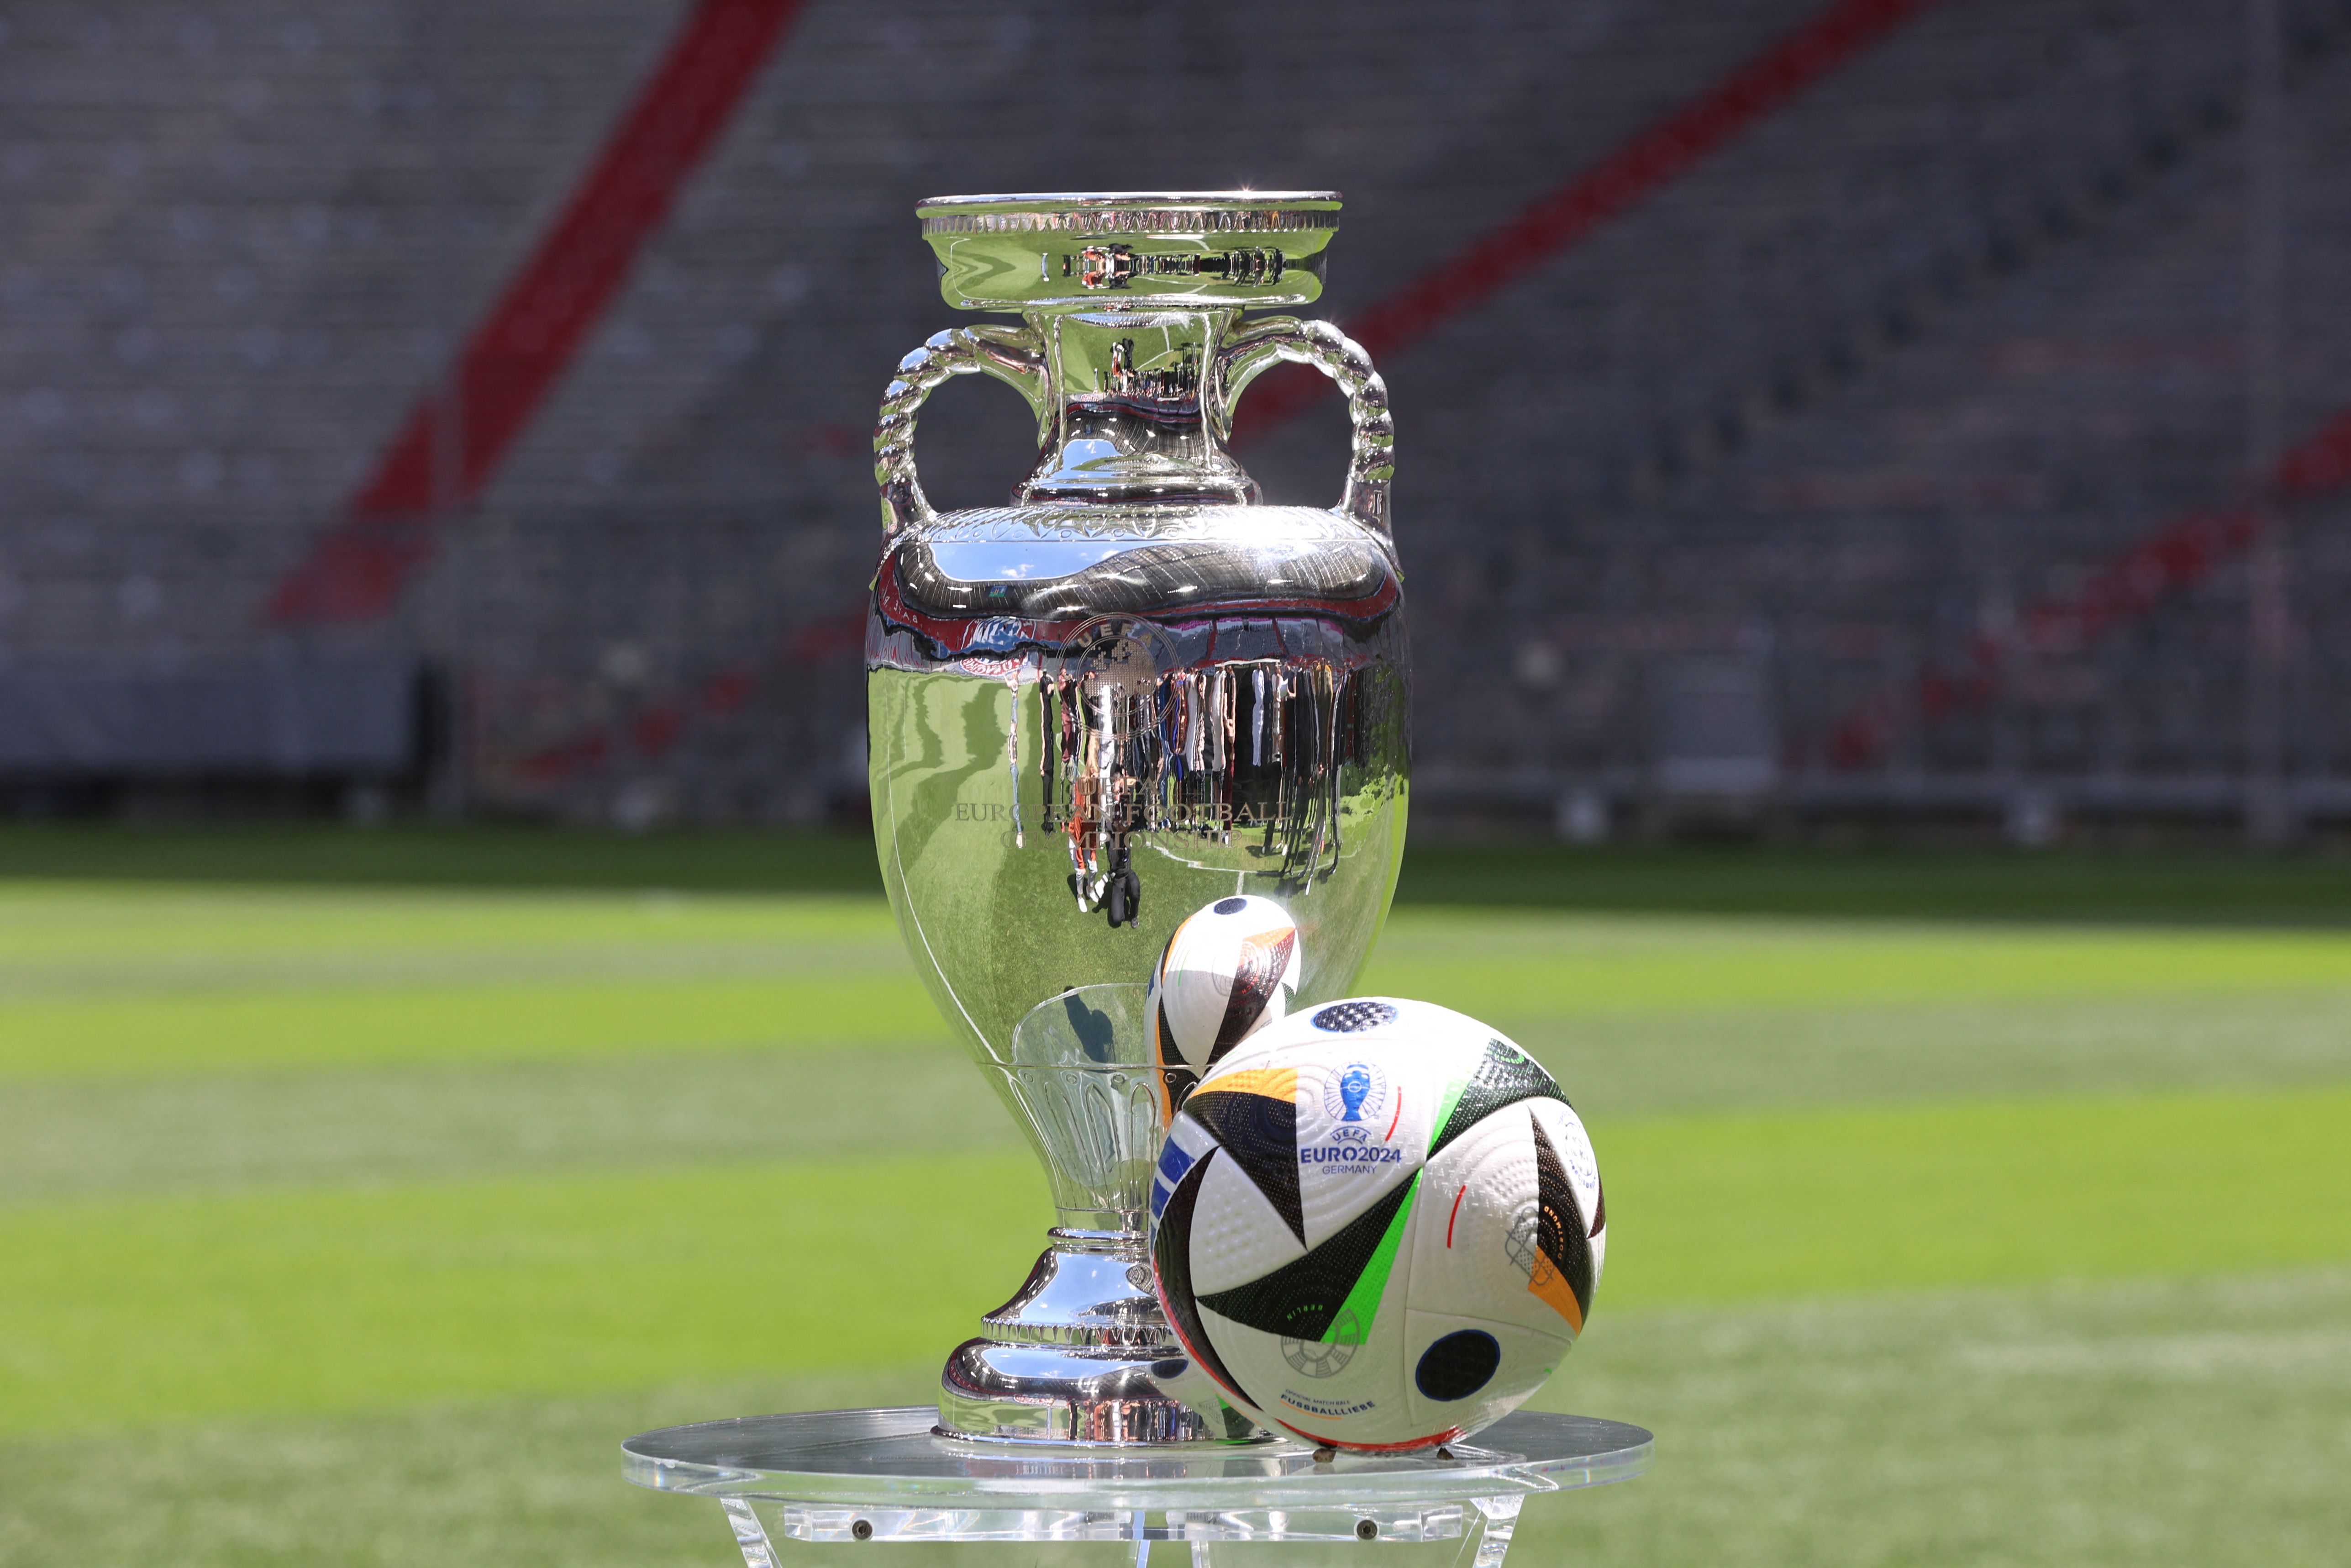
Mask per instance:
[[[1150,997],[1161,1126],[1204,1072],[1281,1020],[1298,994],[1300,964],[1298,926],[1272,898],[1218,898],[1176,926]]]

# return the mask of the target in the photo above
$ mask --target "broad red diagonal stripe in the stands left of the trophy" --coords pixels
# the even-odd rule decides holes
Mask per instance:
[[[409,411],[346,520],[270,592],[266,621],[374,621],[393,609],[433,562],[435,515],[473,503],[496,475],[799,5],[694,7],[555,226],[465,341],[454,400],[435,390]]]

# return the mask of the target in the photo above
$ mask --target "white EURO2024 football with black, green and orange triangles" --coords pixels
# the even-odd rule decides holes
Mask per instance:
[[[1582,1333],[1606,1246],[1559,1084],[1427,1001],[1333,1001],[1232,1051],[1152,1182],[1159,1305],[1197,1371],[1335,1448],[1519,1408]]]

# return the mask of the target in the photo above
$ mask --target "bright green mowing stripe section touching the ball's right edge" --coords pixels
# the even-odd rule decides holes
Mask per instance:
[[[1627,1121],[1601,1309],[2351,1260],[2351,1088]]]

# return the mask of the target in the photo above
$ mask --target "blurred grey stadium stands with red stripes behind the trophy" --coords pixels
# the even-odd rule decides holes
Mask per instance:
[[[1248,183],[1425,820],[2351,823],[2344,0],[16,0],[0,115],[19,809],[853,809],[915,200]]]

